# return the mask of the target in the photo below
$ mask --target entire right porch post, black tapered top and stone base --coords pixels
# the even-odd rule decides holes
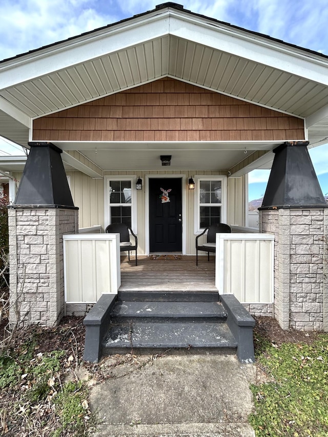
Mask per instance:
[[[259,226],[275,234],[274,315],[280,326],[328,330],[328,210],[307,145],[285,142],[274,150]]]

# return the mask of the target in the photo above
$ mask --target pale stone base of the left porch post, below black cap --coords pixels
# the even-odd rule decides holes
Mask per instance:
[[[52,326],[64,315],[63,234],[78,232],[78,210],[10,207],[8,220],[10,320]]]

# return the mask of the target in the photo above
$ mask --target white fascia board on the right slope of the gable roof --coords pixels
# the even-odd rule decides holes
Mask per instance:
[[[278,41],[192,17],[171,16],[170,35],[328,85],[328,59]]]

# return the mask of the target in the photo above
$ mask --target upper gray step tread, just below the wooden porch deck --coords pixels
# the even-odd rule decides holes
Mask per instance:
[[[112,317],[226,318],[219,302],[117,302]]]

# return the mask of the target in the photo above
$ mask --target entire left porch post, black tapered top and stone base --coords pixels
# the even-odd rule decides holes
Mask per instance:
[[[64,315],[63,234],[78,232],[61,160],[51,143],[29,143],[25,170],[9,206],[10,320],[51,326]]]

